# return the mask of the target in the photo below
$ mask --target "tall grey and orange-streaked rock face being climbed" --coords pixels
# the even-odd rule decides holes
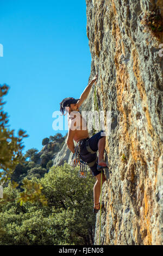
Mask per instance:
[[[163,33],[141,23],[155,8],[163,18],[162,1],[86,0],[86,8],[90,79],[98,72],[99,110],[111,112],[101,245],[162,245]],[[93,88],[82,110],[92,102]]]

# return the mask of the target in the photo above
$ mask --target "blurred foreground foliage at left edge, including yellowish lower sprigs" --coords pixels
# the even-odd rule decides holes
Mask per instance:
[[[24,145],[22,145],[22,139],[24,137],[28,137],[28,135],[25,135],[26,132],[20,129],[18,131],[18,137],[15,137],[14,130],[10,130],[9,125],[7,125],[9,119],[8,114],[3,110],[3,105],[5,103],[3,102],[3,96],[8,93],[8,89],[9,87],[5,84],[0,86],[0,185],[5,187],[8,185],[9,180],[11,180],[12,186],[15,188],[18,186],[15,180],[23,180],[28,173],[24,166],[24,164],[26,164],[26,157],[22,154],[22,149],[24,148]],[[16,170],[16,172],[14,172],[14,170]],[[37,184],[29,182],[26,182],[26,184],[24,183],[24,190],[28,185],[27,198],[30,198],[30,200],[42,200],[42,195]],[[19,199],[21,202],[23,202],[26,196],[24,196],[24,194],[20,194]],[[14,199],[10,199],[8,196],[5,197],[4,194],[0,203],[8,204],[10,203],[10,200]],[[2,227],[0,230],[2,234]]]

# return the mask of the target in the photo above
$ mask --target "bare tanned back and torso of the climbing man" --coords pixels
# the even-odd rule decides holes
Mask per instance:
[[[79,120],[79,115],[80,115],[80,120]],[[77,121],[79,120],[80,127],[77,126],[78,125],[77,121],[74,122],[74,119],[76,119]],[[77,116],[74,114],[72,115],[72,118],[71,118],[71,114],[70,115],[68,114],[68,129],[70,129],[72,125],[74,125],[74,127],[77,126],[73,136],[74,141],[78,142],[80,141],[80,139],[89,137],[89,132],[86,126],[86,120],[85,118],[82,117],[79,111],[77,113]]]

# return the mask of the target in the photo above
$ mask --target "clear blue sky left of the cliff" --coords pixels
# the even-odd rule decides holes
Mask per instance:
[[[27,131],[25,153],[42,148],[54,131],[52,113],[65,97],[79,98],[87,86],[91,54],[86,36],[85,0],[1,1],[0,84],[10,129]]]

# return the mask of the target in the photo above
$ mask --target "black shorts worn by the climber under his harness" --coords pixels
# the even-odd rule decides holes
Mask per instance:
[[[103,130],[100,132],[97,132],[91,138],[85,138],[80,140],[80,158],[86,163],[90,163],[97,158],[96,163],[92,167],[90,167],[93,176],[98,175],[101,171],[97,170],[97,164],[98,164],[97,153],[92,154],[87,151],[86,141],[88,140],[90,148],[93,151],[98,151],[98,142],[99,142],[99,139],[101,139],[102,137],[105,137]]]

